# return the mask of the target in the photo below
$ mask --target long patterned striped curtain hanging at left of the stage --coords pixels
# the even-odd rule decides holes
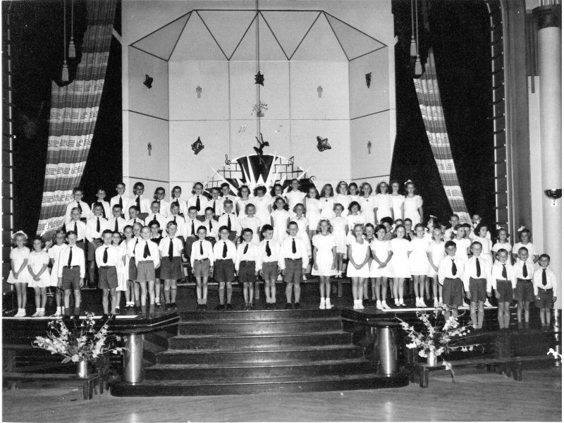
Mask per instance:
[[[110,50],[116,0],[87,0],[82,59],[70,84],[51,85],[49,145],[37,234],[63,225],[73,187],[80,184],[98,116]]]

